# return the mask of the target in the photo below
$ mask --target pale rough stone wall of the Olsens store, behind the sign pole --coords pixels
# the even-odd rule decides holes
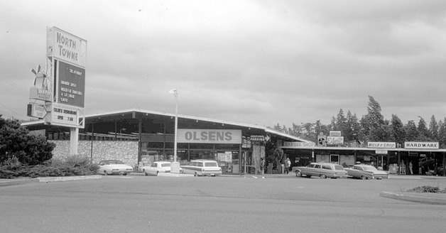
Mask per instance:
[[[53,158],[66,158],[70,155],[70,141],[52,141],[56,144],[53,150]],[[116,159],[129,166],[138,163],[138,141],[79,141],[78,154],[90,158],[93,151],[93,163],[102,160]]]

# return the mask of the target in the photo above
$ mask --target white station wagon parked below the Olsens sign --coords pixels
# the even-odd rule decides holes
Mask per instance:
[[[207,159],[197,159],[190,161],[189,165],[181,166],[186,174],[200,175],[222,175],[222,168],[218,166],[217,161]]]

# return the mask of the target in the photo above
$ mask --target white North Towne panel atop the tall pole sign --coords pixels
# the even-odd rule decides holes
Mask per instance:
[[[48,57],[85,67],[87,40],[52,27],[46,29],[46,44]]]

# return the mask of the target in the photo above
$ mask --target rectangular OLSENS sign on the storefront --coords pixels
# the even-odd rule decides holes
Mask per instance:
[[[241,144],[241,130],[178,129],[178,143]]]

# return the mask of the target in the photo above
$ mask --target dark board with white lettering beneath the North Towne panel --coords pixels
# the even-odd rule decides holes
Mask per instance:
[[[85,107],[85,69],[58,61],[58,103]]]

